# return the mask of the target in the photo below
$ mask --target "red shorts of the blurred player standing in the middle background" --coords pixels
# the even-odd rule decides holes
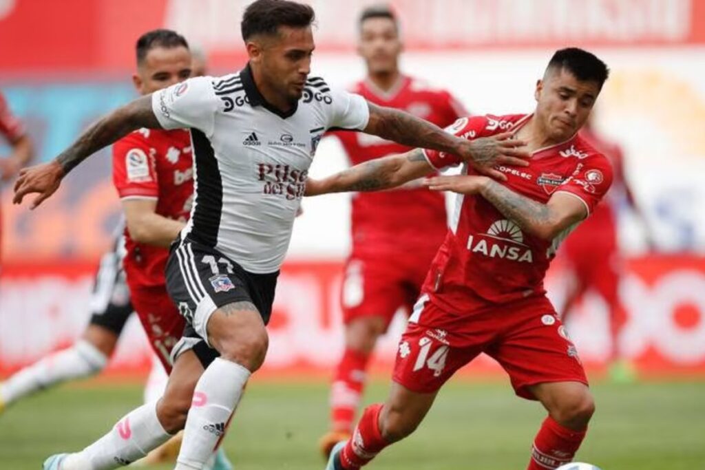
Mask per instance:
[[[364,256],[350,258],[345,266],[341,289],[343,322],[376,316],[384,319],[386,327],[394,314],[405,304],[403,271],[384,259]]]

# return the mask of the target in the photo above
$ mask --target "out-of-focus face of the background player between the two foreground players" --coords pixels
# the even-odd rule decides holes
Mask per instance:
[[[369,18],[360,26],[357,51],[367,63],[370,75],[394,73],[402,44],[396,24],[390,18]]]

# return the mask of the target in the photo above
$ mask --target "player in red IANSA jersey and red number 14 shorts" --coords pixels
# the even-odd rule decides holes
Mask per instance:
[[[560,241],[612,181],[608,159],[577,135],[607,76],[593,54],[562,49],[537,82],[534,113],[462,118],[448,128],[470,140],[509,130],[532,159],[528,167],[496,166],[503,182],[467,164],[461,175],[427,181],[431,190],[458,193],[450,230],[399,342],[387,401],[364,410],[353,437],[333,447],[328,470],[359,469],[412,433],[443,383],[481,352],[507,371],[517,395],[548,411],[527,469],[572,460],[594,402],[544,276]],[[416,149],[309,180],[307,194],[386,189],[458,163],[452,154]]]

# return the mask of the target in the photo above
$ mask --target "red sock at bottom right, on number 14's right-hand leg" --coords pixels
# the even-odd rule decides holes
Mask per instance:
[[[541,424],[541,429],[534,439],[531,461],[527,470],[556,469],[563,464],[572,462],[585,433],[587,433],[587,429],[573,431],[560,426],[551,416],[548,416]]]

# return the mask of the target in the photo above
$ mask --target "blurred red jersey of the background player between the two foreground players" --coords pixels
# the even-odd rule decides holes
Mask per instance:
[[[467,115],[450,93],[406,76],[401,76],[388,92],[369,80],[358,82],[350,91],[374,104],[402,109],[441,127]],[[337,132],[336,135],[353,165],[410,150],[363,132]],[[359,192],[353,195],[351,225],[353,252],[398,247],[400,243],[403,247],[419,243],[438,247],[448,228],[445,198],[443,194],[425,189]]]

